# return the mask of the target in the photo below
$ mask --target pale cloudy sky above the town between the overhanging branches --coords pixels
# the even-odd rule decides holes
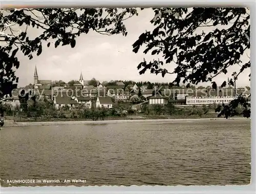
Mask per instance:
[[[37,66],[38,78],[50,80],[70,81],[79,79],[82,72],[84,80],[90,80],[93,77],[100,82],[106,80],[134,80],[134,81],[151,81],[151,82],[172,82],[175,75],[150,74],[146,72],[139,75],[137,70],[138,64],[146,58],[151,60],[157,59],[158,56],[145,55],[143,50],[137,54],[133,53],[132,45],[138,39],[139,35],[145,30],[150,31],[154,26],[150,20],[154,17],[151,9],[144,9],[139,12],[139,16],[134,16],[125,21],[127,36],[120,35],[102,35],[90,31],[88,34],[82,34],[76,39],[75,48],[68,46],[59,46],[54,48],[54,42],[47,48],[47,42],[44,42],[42,53],[39,56],[34,54],[34,58],[29,60],[23,53],[18,53],[20,67],[16,71],[19,77],[18,86],[23,87],[33,83],[35,64]],[[204,30],[205,31],[205,30]],[[31,36],[38,34],[38,29],[30,29],[28,32]],[[249,55],[249,53],[248,53]],[[160,57],[159,57],[160,58]],[[247,60],[246,54],[243,58]],[[172,70],[175,64],[166,64],[164,68]],[[226,75],[222,74],[216,77],[214,81],[221,84],[227,77],[231,78],[234,71],[239,71],[237,65],[228,69]],[[238,87],[249,86],[250,70],[247,69],[241,74],[237,81]],[[211,83],[202,83],[200,85],[210,85]]]

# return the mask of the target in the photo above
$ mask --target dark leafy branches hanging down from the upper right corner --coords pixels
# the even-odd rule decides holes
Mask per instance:
[[[249,57],[247,61],[241,60],[250,49],[247,8],[154,8],[154,11],[151,23],[155,29],[139,36],[133,44],[133,52],[145,48],[143,53],[163,59],[144,59],[137,67],[140,74],[146,71],[162,77],[175,74],[173,83],[177,85],[181,82],[198,84],[226,74],[228,67],[240,66],[238,73],[233,72],[232,79],[223,80],[221,84],[221,87],[228,84],[236,88],[238,76],[250,68]],[[212,26],[216,28],[209,28]],[[172,63],[177,67],[169,72],[167,69],[172,68]],[[212,82],[212,89],[217,89],[215,82]]]

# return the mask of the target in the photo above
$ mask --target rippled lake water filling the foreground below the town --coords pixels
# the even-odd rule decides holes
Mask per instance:
[[[250,121],[3,127],[2,186],[250,183]],[[7,180],[59,183],[7,184]],[[65,183],[85,179],[86,183]]]

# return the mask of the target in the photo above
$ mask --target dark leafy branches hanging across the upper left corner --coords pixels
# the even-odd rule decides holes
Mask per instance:
[[[19,67],[18,50],[32,59],[47,46],[76,45],[76,37],[90,30],[101,34],[126,35],[123,20],[137,14],[136,9],[12,9],[0,10],[0,99],[17,87],[15,69]],[[38,28],[42,33],[29,37],[29,30]]]

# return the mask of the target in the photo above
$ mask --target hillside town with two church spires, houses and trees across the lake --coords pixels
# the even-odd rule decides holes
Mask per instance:
[[[22,94],[23,93],[23,94]],[[28,99],[24,100],[24,94]],[[142,106],[211,106],[228,104],[238,95],[250,98],[250,88],[226,87],[212,89],[210,86],[198,87],[185,85],[177,87],[172,83],[151,83],[134,81],[104,81],[100,83],[95,78],[84,80],[82,73],[77,80],[68,83],[63,81],[41,80],[37,69],[34,71],[34,83],[24,88],[18,88],[8,97],[10,110],[24,112],[32,103],[34,110],[40,109],[40,101],[48,102],[48,106],[55,110],[107,109],[113,111],[143,112]],[[30,103],[31,104],[31,103]],[[41,105],[41,109],[43,106]],[[145,112],[145,111],[144,111]]]

